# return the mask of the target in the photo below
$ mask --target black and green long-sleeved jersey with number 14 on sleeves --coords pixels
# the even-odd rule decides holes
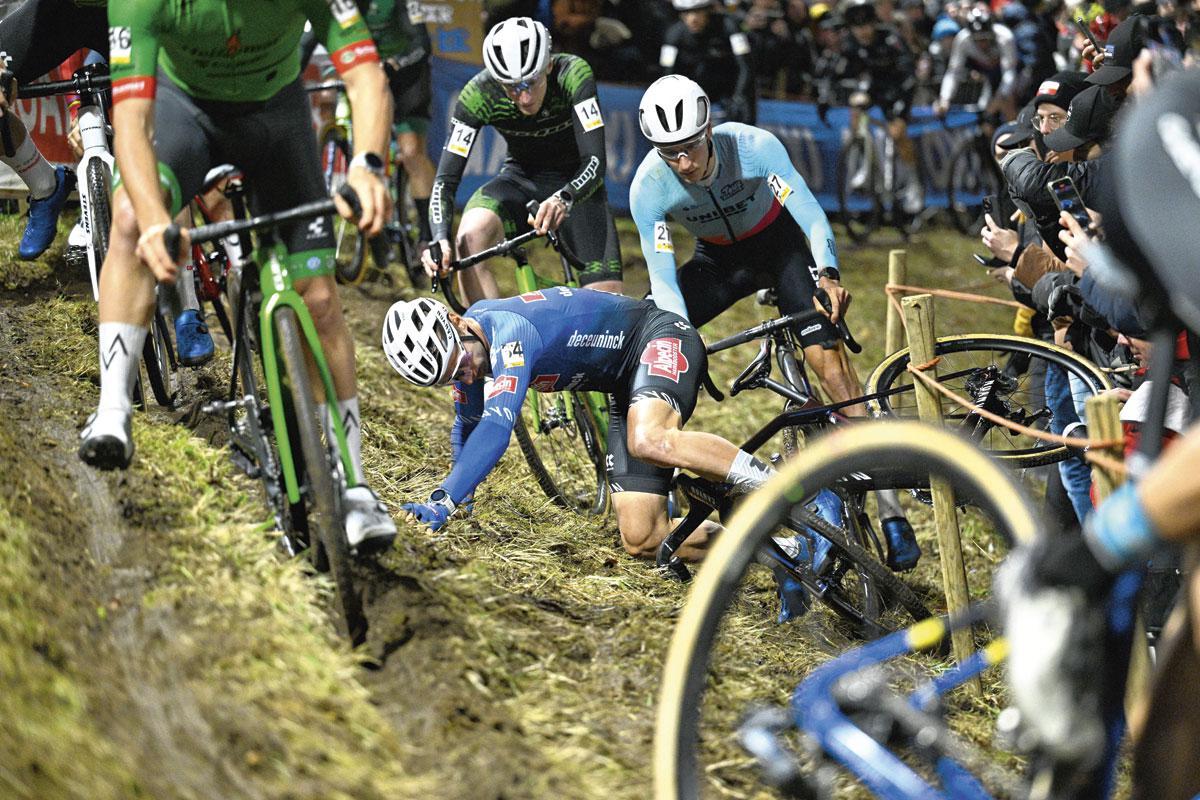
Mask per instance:
[[[455,191],[485,125],[504,137],[506,163],[526,175],[569,175],[563,190],[576,203],[604,186],[604,119],[587,61],[564,53],[551,56],[546,98],[533,116],[522,114],[504,86],[484,70],[463,86],[450,120],[430,201],[434,239],[448,239]]]

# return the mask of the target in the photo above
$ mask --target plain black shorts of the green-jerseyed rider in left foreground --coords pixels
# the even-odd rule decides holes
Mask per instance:
[[[328,197],[308,98],[295,80],[264,102],[216,102],[188,96],[161,72],[155,101],[155,152],[175,215],[217,164],[246,176],[256,215]],[[294,278],[329,275],[334,231],[329,217],[281,225],[288,253],[311,255]],[[329,261],[326,264],[326,260]],[[319,261],[319,263],[318,263]]]

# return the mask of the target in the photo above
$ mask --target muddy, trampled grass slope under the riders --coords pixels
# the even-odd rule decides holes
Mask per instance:
[[[918,251],[914,272],[953,285],[947,264],[967,261],[964,243],[941,243]],[[884,258],[844,260],[870,287]],[[474,517],[439,536],[404,529],[364,567],[371,633],[350,651],[328,619],[331,587],[276,554],[258,485],[196,413],[220,392],[227,355],[185,373],[176,409],[137,415],[130,470],[77,459],[96,401],[95,306],[56,259],[0,269],[0,796],[649,796],[659,670],[685,590],[624,555],[611,519],[551,505],[511,449]],[[644,270],[631,278],[644,283]],[[864,372],[882,355],[883,307],[865,287]],[[394,510],[437,486],[451,420],[444,392],[402,385],[379,351],[378,320],[398,295],[344,293],[367,471]],[[706,333],[763,315],[743,305]],[[961,319],[978,330],[977,317]],[[988,330],[1003,330],[994,317]],[[738,360],[718,361],[719,377]],[[773,407],[704,401],[695,425],[740,439]],[[986,540],[972,563],[979,593]],[[935,561],[911,583],[936,607]],[[716,680],[720,720],[847,644],[820,609],[774,625],[774,602],[766,585],[743,599],[732,646],[756,655]],[[966,709],[965,727],[982,730],[997,708]],[[767,796],[730,753],[713,796]]]

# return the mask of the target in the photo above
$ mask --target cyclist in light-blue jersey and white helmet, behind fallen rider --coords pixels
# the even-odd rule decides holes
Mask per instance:
[[[830,319],[799,332],[804,357],[833,402],[860,396],[832,325],[851,295],[841,285],[829,219],[779,139],[738,122],[713,127],[709,110],[704,90],[684,76],[655,80],[638,108],[654,149],[634,175],[629,204],[655,303],[698,327],[756,289],[774,289],[785,314],[820,308],[814,293],[821,287]],[[678,270],[668,218],[696,236],[695,254]],[[894,492],[877,495],[888,565],[910,570],[920,557],[912,525]]]

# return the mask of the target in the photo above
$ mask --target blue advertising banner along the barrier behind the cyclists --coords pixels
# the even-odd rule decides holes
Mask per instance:
[[[458,91],[478,71],[479,67],[470,65],[433,59],[433,119],[428,131],[430,157],[433,163],[442,155]],[[629,211],[630,181],[650,149],[637,127],[637,103],[642,92],[640,86],[599,85],[608,156],[608,203],[614,210],[624,212]],[[952,112],[942,124],[928,107],[913,109],[908,131],[920,150],[922,163],[925,164],[926,205],[946,205],[947,162],[954,145],[974,132],[974,119],[973,114]],[[812,103],[779,100],[758,102],[758,126],[767,128],[784,143],[792,163],[804,175],[809,188],[826,211],[838,210],[838,154],[848,137],[848,120],[850,110],[845,108],[830,109],[827,122],[822,122]],[[884,136],[881,127],[872,130],[876,136]],[[504,140],[493,128],[485,128],[470,152],[458,188],[460,207],[476,188],[500,170],[504,156]]]

